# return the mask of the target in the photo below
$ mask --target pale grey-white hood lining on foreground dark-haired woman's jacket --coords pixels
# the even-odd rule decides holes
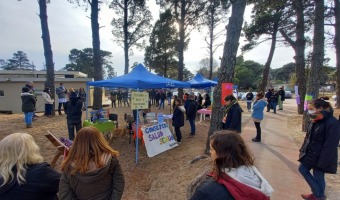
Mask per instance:
[[[240,166],[238,168],[225,169],[224,172],[231,178],[261,191],[266,196],[271,196],[273,188],[254,166]]]

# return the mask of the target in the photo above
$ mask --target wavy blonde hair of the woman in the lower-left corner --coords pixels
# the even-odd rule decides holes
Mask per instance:
[[[34,142],[31,135],[27,133],[13,133],[0,141],[0,176],[4,182],[17,179],[19,185],[25,183],[27,165],[43,162],[39,153],[39,146]],[[16,167],[17,173],[12,169]]]

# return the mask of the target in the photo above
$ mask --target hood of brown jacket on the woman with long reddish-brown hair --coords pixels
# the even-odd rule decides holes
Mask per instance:
[[[76,173],[75,176],[84,183],[90,183],[93,181],[101,180],[110,169],[112,156],[109,154],[104,154],[103,159],[104,163],[106,163],[106,165],[104,165],[103,167],[96,168],[94,163],[92,164],[90,163],[88,172],[84,174]]]

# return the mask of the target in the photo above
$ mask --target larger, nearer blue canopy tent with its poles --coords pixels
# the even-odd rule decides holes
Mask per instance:
[[[183,81],[177,81],[164,78],[149,72],[142,64],[137,65],[130,73],[118,76],[116,78],[87,82],[87,94],[89,86],[107,87],[107,88],[129,88],[136,89],[155,89],[155,88],[190,88],[190,84]],[[87,107],[86,102],[86,107]],[[138,113],[138,110],[137,110]],[[87,118],[87,111],[86,111]],[[137,115],[136,135],[138,135],[138,115]],[[138,162],[138,140],[136,141],[136,164]]]

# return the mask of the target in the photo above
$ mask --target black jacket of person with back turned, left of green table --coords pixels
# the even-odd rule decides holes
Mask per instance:
[[[70,101],[65,104],[65,111],[67,115],[67,121],[73,123],[81,123],[81,115],[83,103],[79,100],[78,97],[71,98]]]

